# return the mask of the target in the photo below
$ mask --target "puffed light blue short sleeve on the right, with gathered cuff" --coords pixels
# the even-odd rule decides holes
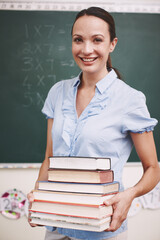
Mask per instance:
[[[122,132],[143,133],[153,131],[157,123],[158,121],[155,118],[150,117],[145,95],[138,91],[136,94],[134,93],[124,114]]]

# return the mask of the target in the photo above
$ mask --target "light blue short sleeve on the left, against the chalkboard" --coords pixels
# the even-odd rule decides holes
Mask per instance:
[[[47,98],[42,108],[42,113],[46,115],[46,118],[54,118],[54,109],[58,94],[60,92],[62,82],[56,83],[49,91]]]

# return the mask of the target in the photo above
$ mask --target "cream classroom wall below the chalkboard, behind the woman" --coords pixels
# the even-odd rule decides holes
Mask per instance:
[[[0,169],[0,195],[10,189],[18,189],[27,194],[34,187],[39,168]],[[128,163],[124,168],[123,182],[125,187],[133,186],[142,175],[140,163]],[[2,184],[3,183],[3,184]],[[128,218],[128,240],[159,240],[160,209],[141,209]],[[8,219],[0,214],[1,240],[43,240],[44,227],[31,228],[26,216],[18,220]]]

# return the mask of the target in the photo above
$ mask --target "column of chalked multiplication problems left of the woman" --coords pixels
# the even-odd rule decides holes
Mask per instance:
[[[43,90],[49,82],[56,82],[54,73],[54,25],[24,25],[25,41],[21,50],[24,107],[42,107]]]

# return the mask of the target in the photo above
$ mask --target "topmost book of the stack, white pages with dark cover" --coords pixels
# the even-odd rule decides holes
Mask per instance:
[[[81,170],[109,170],[110,158],[93,157],[49,157],[49,168],[81,169]]]

